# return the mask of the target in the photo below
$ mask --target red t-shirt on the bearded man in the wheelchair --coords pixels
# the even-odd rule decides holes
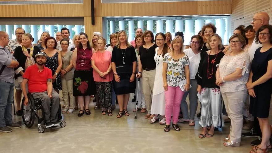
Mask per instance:
[[[49,68],[44,66],[44,70],[40,72],[36,64],[27,68],[23,78],[28,79],[30,93],[47,91],[47,79],[53,79],[52,71]]]

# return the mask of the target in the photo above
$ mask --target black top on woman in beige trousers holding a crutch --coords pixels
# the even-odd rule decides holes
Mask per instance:
[[[156,68],[156,62],[154,60],[155,56],[155,48],[158,46],[154,44],[150,48],[144,48],[143,46],[140,46],[139,48],[139,55],[142,63],[142,69],[155,69]]]

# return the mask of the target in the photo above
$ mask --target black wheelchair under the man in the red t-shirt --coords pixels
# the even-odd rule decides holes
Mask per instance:
[[[23,123],[28,127],[31,128],[34,124],[35,117],[38,119],[38,131],[40,133],[44,133],[46,127],[46,121],[45,121],[45,114],[43,111],[43,106],[41,104],[40,99],[34,99],[33,96],[28,93],[28,105],[24,105],[24,97],[22,100],[22,118],[23,118]],[[61,110],[61,105],[59,105],[59,110],[57,113],[59,126],[65,127],[66,122],[62,121],[62,110]],[[42,124],[43,123],[43,124]],[[56,128],[57,126],[52,126],[49,128]]]

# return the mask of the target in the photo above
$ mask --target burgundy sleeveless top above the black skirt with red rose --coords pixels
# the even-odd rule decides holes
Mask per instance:
[[[78,49],[76,70],[91,70],[92,48]]]

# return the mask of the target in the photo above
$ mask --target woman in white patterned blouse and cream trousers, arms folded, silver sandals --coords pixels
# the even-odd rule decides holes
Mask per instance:
[[[228,137],[224,138],[226,147],[238,147],[241,142],[243,128],[243,108],[248,97],[246,83],[249,78],[250,59],[244,52],[244,37],[235,34],[229,39],[232,53],[224,56],[216,71],[216,85],[220,86],[228,117],[231,119],[232,129]]]

